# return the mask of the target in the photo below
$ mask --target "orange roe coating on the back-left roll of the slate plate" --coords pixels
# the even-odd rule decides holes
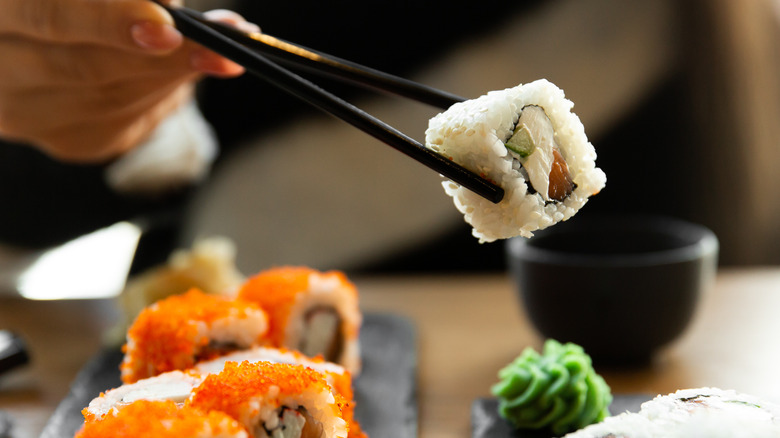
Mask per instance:
[[[209,343],[199,333],[199,323],[210,326],[220,319],[241,319],[250,313],[264,312],[255,303],[197,289],[158,301],[144,309],[128,329],[128,344],[123,347],[127,357],[121,365],[122,381],[133,383],[166,371],[192,367],[199,350]]]

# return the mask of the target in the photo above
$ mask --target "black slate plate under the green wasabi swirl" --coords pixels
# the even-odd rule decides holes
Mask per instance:
[[[609,412],[638,412],[642,403],[652,396],[646,394],[616,394],[609,405]],[[550,438],[549,432],[536,430],[517,430],[498,415],[498,400],[495,398],[480,398],[471,405],[471,437],[472,438]]]

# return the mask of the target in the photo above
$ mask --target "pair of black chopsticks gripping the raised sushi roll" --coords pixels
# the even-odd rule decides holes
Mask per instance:
[[[503,198],[504,190],[496,184],[426,148],[360,108],[267,59],[261,53],[287,64],[302,66],[311,71],[440,107],[448,107],[462,98],[272,37],[262,41],[256,35],[253,35],[253,38],[227,26],[207,22],[199,13],[190,9],[162,6],[171,14],[182,34],[242,65],[247,72],[342,119],[491,202],[498,203]],[[274,42],[275,45],[269,42]]]

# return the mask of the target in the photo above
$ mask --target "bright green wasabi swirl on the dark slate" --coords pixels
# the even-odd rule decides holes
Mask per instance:
[[[609,386],[579,345],[549,339],[542,355],[526,348],[498,377],[499,415],[519,429],[560,436],[609,416]]]

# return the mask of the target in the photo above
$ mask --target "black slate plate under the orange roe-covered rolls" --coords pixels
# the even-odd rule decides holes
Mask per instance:
[[[371,438],[417,436],[417,340],[399,316],[366,314],[360,331],[363,371],[355,379],[355,416]],[[41,438],[72,438],[81,410],[101,391],[121,385],[119,349],[97,354],[79,372]]]

